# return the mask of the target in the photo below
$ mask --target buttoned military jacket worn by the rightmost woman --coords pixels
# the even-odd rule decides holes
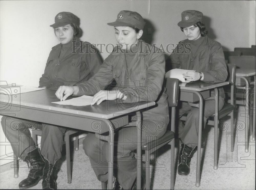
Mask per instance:
[[[183,40],[176,46],[174,53],[170,55],[172,68],[195,70],[204,74],[204,82],[226,81],[228,76],[224,53],[219,42],[211,40],[208,36],[192,57],[189,40]],[[222,88],[219,95],[225,97]]]

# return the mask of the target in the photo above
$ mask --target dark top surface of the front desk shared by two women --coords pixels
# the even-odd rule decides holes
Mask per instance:
[[[59,99],[55,96],[56,90],[44,89],[33,92],[21,93],[16,95],[0,94],[0,102],[2,104],[10,104],[15,106],[26,106],[31,109],[44,109],[58,112],[65,112],[81,116],[94,118],[111,119],[116,116],[124,115],[150,106],[154,106],[155,102],[136,102],[136,103],[117,103],[116,101],[103,101],[100,105],[87,106],[71,106],[59,105],[51,102],[58,102]],[[71,99],[77,96],[70,96]],[[0,107],[0,110],[2,107]],[[5,110],[1,110],[5,111]]]

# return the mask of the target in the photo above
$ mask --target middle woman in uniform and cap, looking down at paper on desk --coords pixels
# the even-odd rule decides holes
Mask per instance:
[[[140,40],[145,21],[137,12],[123,10],[119,12],[116,21],[108,25],[114,26],[118,46],[104,60],[99,72],[87,82],[73,86],[60,86],[56,96],[60,100],[65,100],[72,94],[94,93],[92,105],[98,105],[103,100],[115,99],[124,103],[155,101],[157,106],[143,112],[143,122],[147,129],[142,131],[142,141],[146,141],[147,133],[151,135],[154,133],[155,137],[159,138],[166,132],[169,122],[167,95],[165,89],[162,88],[165,74],[164,55],[150,52],[153,49],[152,46]],[[119,87],[125,85],[128,88],[121,88],[123,90],[116,88],[111,92],[101,90],[113,79]],[[134,86],[137,89],[134,88],[134,92],[131,92]],[[160,128],[157,127],[159,125],[161,125]],[[116,164],[118,165],[118,168],[114,170],[115,188],[119,184],[124,189],[135,187],[136,159],[132,151],[136,149],[136,146],[131,145],[133,139],[136,139],[135,126],[122,128],[115,132],[116,142],[127,142],[127,145],[115,146]],[[106,182],[108,179],[108,162],[104,161],[107,160],[106,155],[108,155],[106,149],[104,150],[105,146],[107,142],[99,140],[94,133],[89,133],[83,141],[83,149],[101,182]]]

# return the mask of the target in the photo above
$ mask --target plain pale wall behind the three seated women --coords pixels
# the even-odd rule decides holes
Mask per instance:
[[[187,9],[203,12],[208,36],[224,50],[255,45],[255,1],[0,1],[0,80],[39,85],[51,47],[59,43],[49,27],[58,12],[80,18],[81,40],[115,44],[114,29],[106,23],[120,10],[137,11],[147,21],[144,39],[166,47],[185,39],[177,23]],[[105,59],[109,53],[102,52]],[[0,148],[5,154],[5,146]]]

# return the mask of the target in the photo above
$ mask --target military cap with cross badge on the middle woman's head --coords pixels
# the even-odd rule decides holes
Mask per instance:
[[[140,14],[130,10],[122,10],[118,13],[115,22],[108,23],[110,26],[132,26],[142,30],[145,26],[145,21]]]

